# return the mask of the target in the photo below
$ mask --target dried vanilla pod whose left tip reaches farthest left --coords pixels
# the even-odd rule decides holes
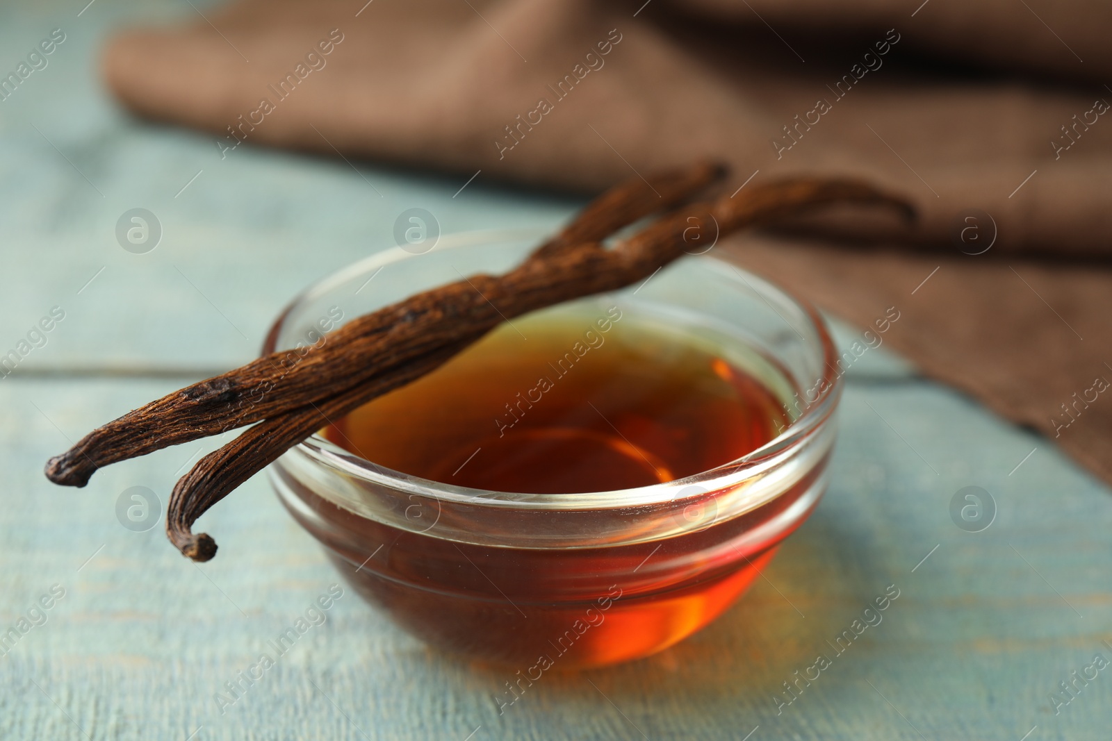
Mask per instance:
[[[555,256],[577,243],[602,240],[616,229],[686,200],[724,172],[721,164],[706,161],[648,180],[634,178],[588,204],[534,256]],[[403,359],[425,352],[419,342],[417,347],[399,343],[399,331],[436,332],[436,326],[450,321],[457,312],[474,312],[477,303],[486,301],[464,280],[358,317],[304,356],[291,351],[271,353],[167,394],[93,430],[47,462],[47,478],[63,485],[83,487],[102,465],[219,434],[292,405],[327,398],[337,391],[334,384],[361,382],[389,366],[393,360],[385,357],[388,351]],[[486,309],[493,312],[493,307]]]

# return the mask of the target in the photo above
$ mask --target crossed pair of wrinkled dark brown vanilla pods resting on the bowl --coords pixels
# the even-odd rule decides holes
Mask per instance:
[[[286,450],[332,419],[435,370],[507,319],[613,291],[652,276],[685,253],[685,233],[724,237],[827,203],[874,203],[914,211],[907,201],[862,182],[796,178],[753,186],[736,197],[665,213],[612,248],[616,230],[688,200],[724,174],[699,162],[633,179],[593,201],[559,234],[503,276],[471,276],[358,317],[304,357],[277,352],[195,383],[98,428],[47,463],[47,477],[85,485],[97,468],[252,424],[200,459],[170,497],[167,535],[187,557],[207,561],[216,542],[193,522]],[[240,402],[267,384],[246,411]],[[256,393],[256,397],[258,394]]]

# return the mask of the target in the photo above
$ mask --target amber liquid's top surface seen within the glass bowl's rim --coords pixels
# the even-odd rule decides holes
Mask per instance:
[[[613,309],[503,326],[324,434],[434,481],[574,493],[699,473],[787,422],[772,391],[713,348]]]

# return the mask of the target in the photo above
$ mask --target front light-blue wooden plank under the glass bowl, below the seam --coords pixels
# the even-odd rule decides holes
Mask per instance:
[[[18,492],[0,512],[0,625],[51,584],[67,590],[2,660],[2,738],[81,738],[67,713],[93,739],[125,740],[199,725],[198,739],[464,739],[479,725],[475,739],[739,739],[759,725],[753,739],[1017,740],[1036,724],[1032,739],[1108,738],[1103,672],[1060,715],[1048,700],[1094,653],[1112,659],[1108,490],[1045,441],[917,381],[848,387],[815,515],[738,605],[662,654],[546,674],[499,715],[512,672],[430,651],[347,594],[221,715],[214,693],[336,580],[315,541],[260,477],[206,515],[221,545],[209,564],[185,561],[158,528],[125,530],[119,493],[142,484],[165,501],[188,447],[110,467],[85,490],[39,472],[62,433],[163,385],[0,383],[0,464]],[[999,505],[981,533],[950,517],[969,484]],[[900,597],[882,622],[836,655],[826,641],[890,584]],[[777,715],[774,693],[817,653],[833,665]]]

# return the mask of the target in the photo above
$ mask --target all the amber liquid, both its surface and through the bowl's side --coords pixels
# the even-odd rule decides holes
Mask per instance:
[[[713,343],[686,338],[594,304],[517,319],[324,434],[380,465],[490,490],[606,491],[686,477],[748,453],[788,423],[765,383]],[[447,540],[435,528],[410,532],[360,517],[304,487],[298,495],[322,520],[291,512],[403,627],[535,679],[547,668],[542,658],[559,669],[635,659],[721,614],[787,533],[744,552],[731,543],[816,485],[824,467],[743,515],[617,545]],[[718,493],[699,504],[713,507]]]

